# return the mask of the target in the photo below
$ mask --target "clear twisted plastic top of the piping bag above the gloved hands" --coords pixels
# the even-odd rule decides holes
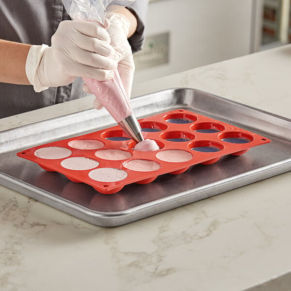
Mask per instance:
[[[125,7],[135,0],[63,0],[65,10],[72,19],[104,24],[107,14]]]

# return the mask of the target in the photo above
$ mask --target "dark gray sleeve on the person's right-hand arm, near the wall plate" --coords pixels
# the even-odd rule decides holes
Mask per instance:
[[[145,24],[146,24],[146,14],[147,14],[148,0],[135,0],[131,5],[126,8],[133,13],[137,19],[137,29],[129,37],[129,44],[131,46],[132,52],[139,51],[143,49],[145,42]]]

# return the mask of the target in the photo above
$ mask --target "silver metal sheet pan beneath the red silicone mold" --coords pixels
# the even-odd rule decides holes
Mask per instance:
[[[47,172],[16,152],[114,125],[90,109],[0,132],[0,184],[98,226],[120,226],[291,170],[291,120],[195,89],[175,88],[132,99],[138,118],[183,108],[272,139],[242,156],[194,165],[111,195]]]

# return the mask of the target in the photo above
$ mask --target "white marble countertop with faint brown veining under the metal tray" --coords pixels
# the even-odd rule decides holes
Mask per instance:
[[[291,118],[290,76],[291,45],[138,84],[133,95],[192,87]],[[0,130],[91,104],[3,118]],[[0,290],[291,290],[290,213],[290,172],[116,228],[0,186]]]

